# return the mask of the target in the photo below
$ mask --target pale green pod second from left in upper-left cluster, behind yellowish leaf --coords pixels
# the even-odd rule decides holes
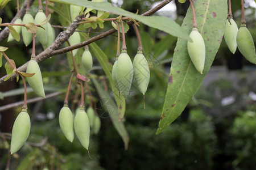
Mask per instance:
[[[27,23],[34,23],[34,18],[30,12],[26,12],[22,19],[22,24]],[[28,32],[26,27],[22,27],[22,39],[26,46],[30,45],[30,42],[33,40],[32,33]]]

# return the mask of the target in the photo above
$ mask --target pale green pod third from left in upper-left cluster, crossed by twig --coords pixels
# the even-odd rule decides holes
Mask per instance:
[[[43,10],[38,10],[35,16],[35,24],[40,24],[44,20],[46,20],[46,14],[44,14]],[[36,37],[39,42],[43,45],[44,49],[47,47],[47,39],[48,39],[48,26],[47,24],[42,25],[44,28],[38,27],[38,32],[36,33]]]

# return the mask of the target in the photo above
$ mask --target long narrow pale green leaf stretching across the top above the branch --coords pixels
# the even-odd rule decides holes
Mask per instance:
[[[189,34],[180,27],[179,24],[164,16],[141,16],[133,14],[132,12],[123,10],[113,6],[109,2],[90,2],[90,1],[77,1],[77,0],[53,0],[54,2],[67,3],[72,5],[80,5],[84,7],[94,8],[96,10],[106,11],[112,14],[123,15],[133,18],[148,25],[149,27],[157,28],[161,31],[170,33],[173,36],[183,39],[189,39]]]

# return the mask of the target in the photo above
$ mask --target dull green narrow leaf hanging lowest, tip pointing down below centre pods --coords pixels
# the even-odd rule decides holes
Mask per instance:
[[[111,117],[111,121],[117,130],[118,134],[122,137],[123,143],[125,144],[125,149],[127,150],[129,145],[129,135],[125,129],[125,125],[123,122],[119,122],[119,114],[118,114],[118,108],[115,104],[114,100],[112,100],[112,97],[104,91],[104,88],[100,85],[100,83],[97,82],[95,78],[93,79],[94,86],[97,89],[98,95],[100,95],[101,99],[104,99],[104,109],[105,111],[109,112],[109,116]]]

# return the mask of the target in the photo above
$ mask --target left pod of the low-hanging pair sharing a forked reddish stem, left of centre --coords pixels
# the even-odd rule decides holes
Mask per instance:
[[[74,117],[67,104],[64,104],[60,109],[59,114],[60,129],[68,139],[69,142],[73,142],[74,139]]]

